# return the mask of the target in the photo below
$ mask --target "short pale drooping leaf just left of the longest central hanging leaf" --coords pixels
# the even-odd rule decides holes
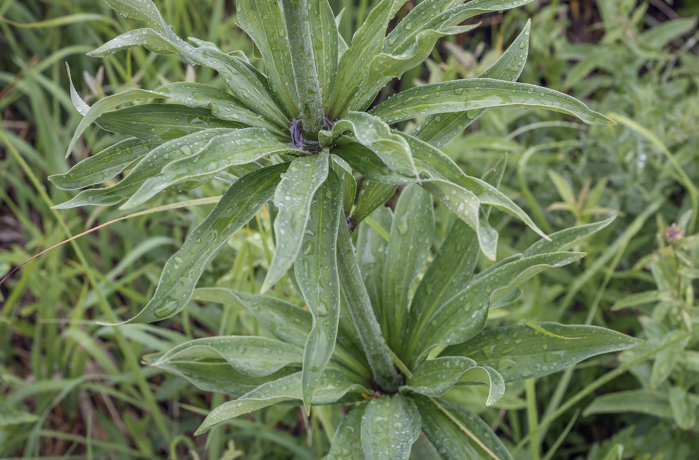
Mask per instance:
[[[279,214],[274,221],[277,252],[274,254],[262,292],[272,287],[294,264],[303,243],[313,196],[325,182],[329,171],[329,154],[323,150],[317,155],[291,161],[287,173],[274,194]]]

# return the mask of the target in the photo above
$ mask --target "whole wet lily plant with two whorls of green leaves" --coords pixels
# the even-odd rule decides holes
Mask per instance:
[[[546,236],[498,191],[504,162],[473,178],[439,150],[491,107],[545,108],[586,123],[613,123],[571,96],[516,82],[529,24],[479,78],[414,87],[373,105],[382,87],[421,64],[438,38],[476,27],[459,25],[465,20],[531,0],[425,0],[388,34],[405,0],[381,0],[349,44],[327,0],[238,0],[238,22],[265,73],[243,52],[182,40],[150,0],[105,1],[146,27],[89,55],[143,45],[214,69],[228,89],[173,82],[90,107],[71,82],[84,117],[68,154],[92,123],[130,137],[50,179],[80,189],[129,171],[115,185],[84,190],[56,208],[121,203],[128,209],[166,189],[230,183],[167,261],[151,301],[122,324],[166,319],[185,308],[217,250],[268,201],[278,209],[276,252],[262,292],[293,269],[308,306],[219,289],[210,294],[248,308],[274,338],[201,338],[148,358],[203,389],[239,396],[213,410],[199,433],[275,403],[303,404],[306,412],[311,405],[352,403],[330,459],[408,459],[420,431],[445,459],[509,459],[484,422],[439,396],[454,384],[488,384],[491,404],[506,382],[639,343],[594,326],[531,323],[483,331],[489,308],[512,299],[543,268],[582,257],[566,250],[608,223]],[[119,108],[154,99],[175,103]],[[391,128],[418,117],[410,134]],[[355,200],[356,175],[366,185]],[[398,185],[406,187],[393,214],[383,205]],[[431,247],[433,199],[459,220],[418,282]],[[473,275],[479,254],[496,259],[490,208],[519,218],[543,239]],[[360,225],[369,215],[385,231]]]

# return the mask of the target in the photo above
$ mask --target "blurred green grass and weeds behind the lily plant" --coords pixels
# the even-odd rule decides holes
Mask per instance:
[[[252,56],[252,43],[236,25],[233,2],[156,3],[180,36]],[[371,0],[331,1],[336,12],[345,8],[340,31],[348,41],[372,5]],[[676,222],[686,210],[694,215],[698,210],[691,193],[699,181],[699,36],[691,17],[697,13],[696,1],[540,0],[490,15],[470,34],[440,41],[424,66],[382,92],[385,98],[424,82],[477,76],[531,17],[531,50],[520,81],[568,92],[595,110],[621,115],[612,115],[617,126],[586,127],[541,110],[493,109],[445,145],[473,175],[507,153],[503,190],[546,231],[620,213],[612,226],[577,248],[588,257],[532,280],[519,301],[491,312],[489,326],[526,318],[587,322],[644,336],[639,318],[650,315],[652,305],[619,312],[610,306],[653,288],[649,272],[636,262],[656,250],[658,218]],[[107,59],[85,56],[134,27],[136,21],[115,15],[100,1],[0,0],[0,275],[124,215],[101,207],[50,210],[72,192],[52,187],[46,176],[67,171],[118,140],[92,127],[73,156],[63,158],[80,121],[64,62],[89,103],[129,87],[152,89],[176,80],[221,86],[208,69],[190,69],[176,57],[140,48]],[[186,194],[159,194],[149,206],[217,196],[224,189],[212,181]],[[157,324],[96,324],[128,317],[150,299],[162,264],[211,206],[122,220],[44,254],[0,285],[0,457],[319,459],[326,454],[342,417],[339,408],[314,408],[309,419],[292,406],[275,406],[193,438],[224,396],[140,364],[143,354],[190,338],[266,333],[243,309],[192,302],[182,314]],[[273,254],[269,211],[224,246],[200,286],[257,292]],[[441,207],[436,212],[435,248],[454,218]],[[500,231],[500,257],[536,239],[507,215],[493,213],[491,222]],[[689,233],[696,231],[692,220]],[[288,279],[276,294],[297,295]],[[575,418],[596,394],[640,386],[633,375],[642,368],[636,366],[635,374],[589,387],[617,366],[616,357],[603,356],[529,387],[513,384],[492,408],[484,407],[479,387],[462,387],[450,397],[491,423],[518,460],[698,458],[698,433],[682,431],[671,420],[630,413]],[[583,395],[586,388],[594,391]],[[575,398],[579,401],[570,408],[558,410]],[[561,415],[552,417],[557,412]],[[427,458],[419,452],[414,457]]]

